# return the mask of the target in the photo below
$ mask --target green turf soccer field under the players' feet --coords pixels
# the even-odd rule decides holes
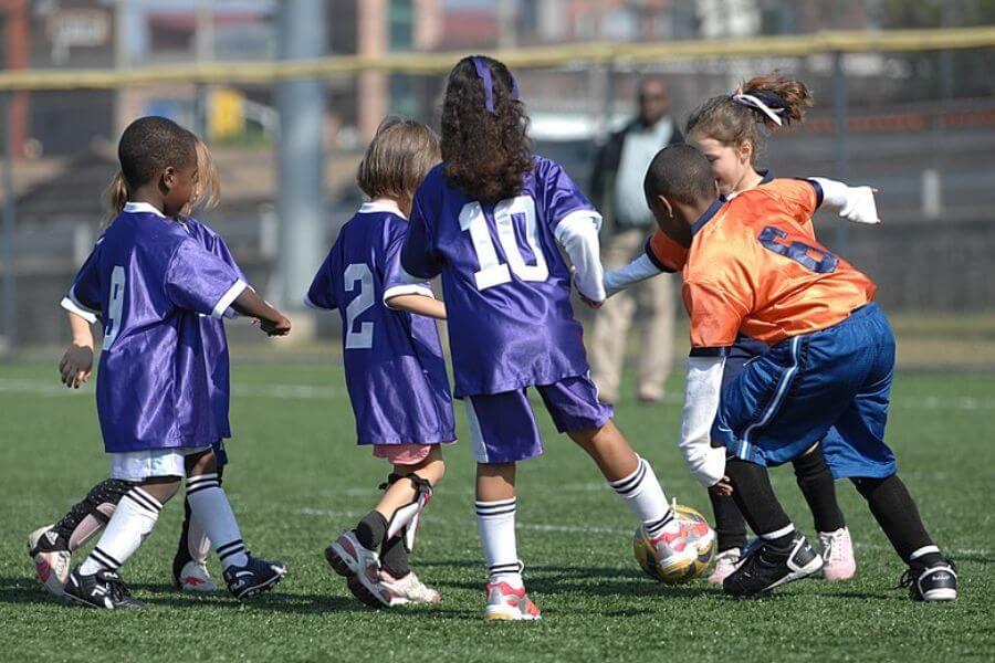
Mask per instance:
[[[240,604],[169,589],[181,517],[166,507],[123,570],[147,604],[111,613],[60,603],[35,583],[29,532],[106,475],[93,386],[60,389],[50,365],[0,366],[0,660],[9,661],[991,661],[995,657],[995,376],[900,373],[889,440],[936,540],[957,561],[961,599],[915,604],[892,589],[902,565],[848,483],[838,492],[857,543],[858,576],[806,580],[773,598],[726,599],[703,581],[667,588],[631,552],[628,511],[594,465],[538,419],[546,455],[520,471],[519,550],[538,623],[485,623],[482,555],[467,444],[425,518],[413,559],[440,589],[438,608],[373,611],[354,601],[322,550],[376,498],[381,461],[354,445],[334,366],[239,366],[232,463],[224,485],[253,552],[287,562],[274,591]],[[671,385],[672,393],[679,385]],[[622,403],[617,421],[653,463],[668,495],[708,511],[674,446],[675,397]],[[462,409],[457,417],[465,431]],[[811,518],[789,469],[774,480],[797,525]],[[82,559],[82,555],[78,556]],[[217,562],[212,572],[220,577]]]

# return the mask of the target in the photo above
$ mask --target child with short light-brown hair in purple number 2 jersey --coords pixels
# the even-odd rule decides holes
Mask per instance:
[[[305,297],[308,306],[338,309],[357,442],[394,466],[374,511],[325,550],[353,594],[374,607],[439,602],[408,554],[446,469],[441,445],[455,440],[433,319],[446,318],[446,306],[428,283],[399,276],[411,198],[438,161],[439,140],[426,125],[398,117],[380,124],[357,177],[370,200],[342,228]]]

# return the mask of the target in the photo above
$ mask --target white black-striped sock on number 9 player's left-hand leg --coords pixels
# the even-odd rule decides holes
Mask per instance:
[[[156,526],[163,505],[146,491],[135,486],[121,498],[101,540],[80,567],[84,576],[100,570],[116,571],[135,554]]]

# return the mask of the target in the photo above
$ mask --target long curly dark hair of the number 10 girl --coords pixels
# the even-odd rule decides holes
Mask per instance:
[[[476,55],[491,72],[494,113],[486,109],[483,80],[472,57],[449,74],[442,104],[442,161],[447,180],[483,202],[517,196],[534,167],[525,104],[514,98],[511,72],[503,63]]]

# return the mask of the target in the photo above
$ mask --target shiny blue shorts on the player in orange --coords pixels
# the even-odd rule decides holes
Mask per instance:
[[[713,438],[760,465],[786,463],[821,440],[835,477],[891,476],[884,425],[893,370],[894,335],[868,304],[745,362],[722,389]]]

